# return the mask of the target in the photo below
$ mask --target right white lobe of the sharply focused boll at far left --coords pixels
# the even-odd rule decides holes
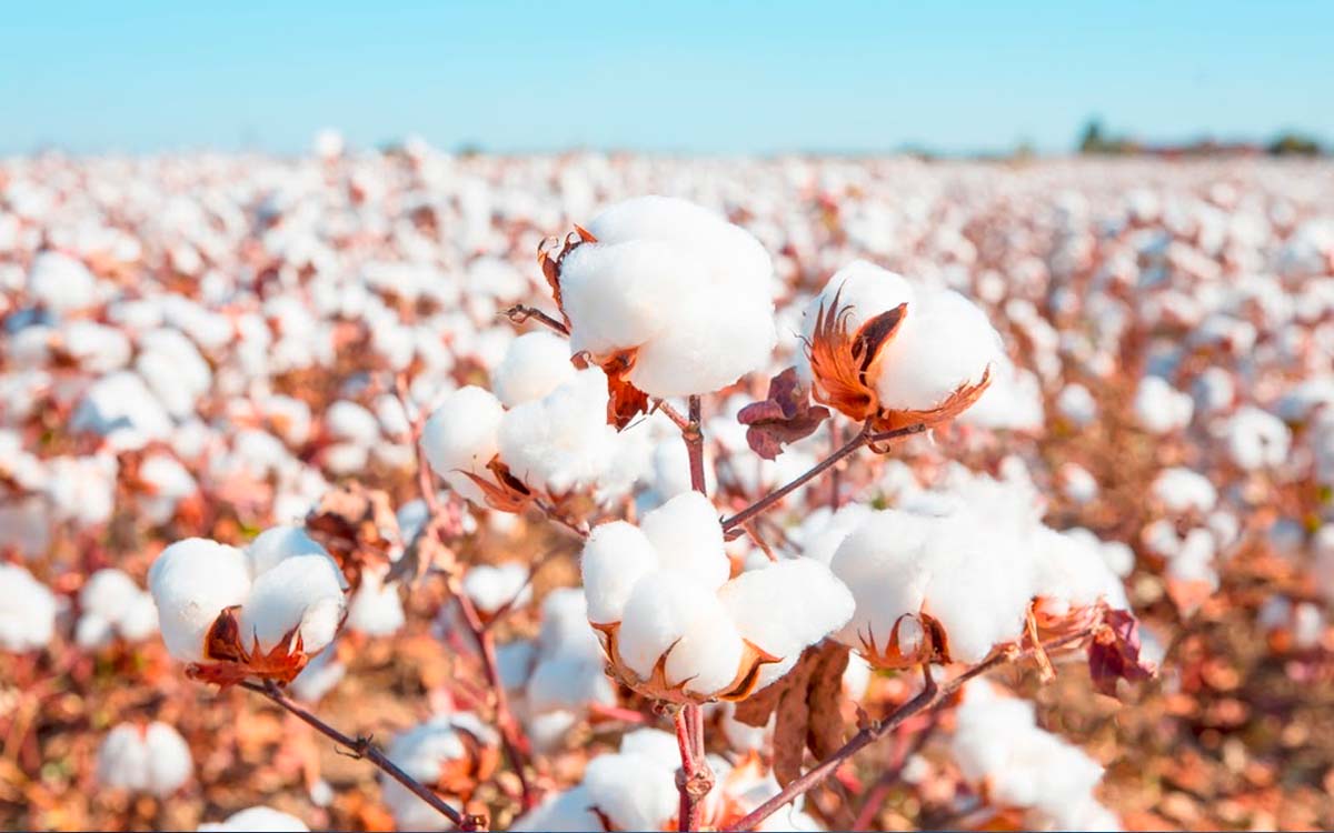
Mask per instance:
[[[281,560],[255,577],[241,608],[241,645],[249,649],[253,641],[268,653],[295,633],[305,653],[321,650],[343,624],[344,586],[343,573],[327,554]]]

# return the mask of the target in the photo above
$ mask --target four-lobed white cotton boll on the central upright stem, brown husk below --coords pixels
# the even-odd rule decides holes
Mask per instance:
[[[660,700],[747,697],[851,614],[847,589],[818,561],[728,578],[716,509],[694,492],[647,513],[639,526],[595,528],[580,566],[588,621],[612,668]],[[783,600],[791,604],[775,606]]]

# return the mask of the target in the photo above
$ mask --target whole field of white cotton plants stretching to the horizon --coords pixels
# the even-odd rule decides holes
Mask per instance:
[[[9,829],[1334,826],[1334,165],[0,163]]]

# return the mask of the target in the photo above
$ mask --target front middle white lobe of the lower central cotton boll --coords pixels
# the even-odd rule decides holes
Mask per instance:
[[[690,628],[696,608],[716,604],[714,589],[686,573],[658,570],[644,576],[622,614],[616,634],[622,660],[647,680],[658,658]]]

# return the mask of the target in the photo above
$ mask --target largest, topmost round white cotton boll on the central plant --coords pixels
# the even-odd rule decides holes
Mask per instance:
[[[764,367],[778,336],[759,241],[684,200],[638,197],[560,257],[571,349],[651,396],[708,393]]]

